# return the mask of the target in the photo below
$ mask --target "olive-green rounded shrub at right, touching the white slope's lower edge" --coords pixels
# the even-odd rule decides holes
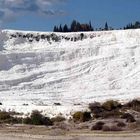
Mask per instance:
[[[120,107],[121,107],[121,104],[119,102],[113,101],[113,100],[108,100],[102,104],[102,108],[107,111],[111,111],[111,110],[114,110],[114,109],[120,108]]]

